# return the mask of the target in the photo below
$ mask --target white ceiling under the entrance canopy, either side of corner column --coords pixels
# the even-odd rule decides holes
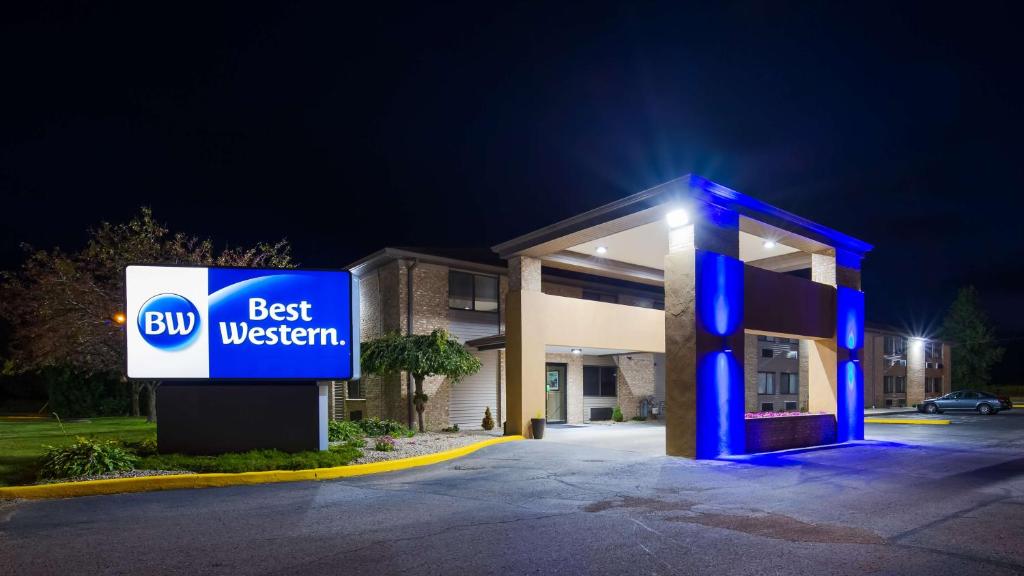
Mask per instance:
[[[740,231],[739,259],[745,262],[798,251],[796,248],[781,244],[779,240],[781,239],[775,240],[773,247],[766,248],[764,238]],[[597,249],[601,246],[606,251],[603,254],[598,254]],[[569,251],[590,256],[594,258],[595,262],[617,260],[654,270],[665,270],[665,256],[669,253],[669,225],[664,220],[650,222],[579,244],[569,248]]]

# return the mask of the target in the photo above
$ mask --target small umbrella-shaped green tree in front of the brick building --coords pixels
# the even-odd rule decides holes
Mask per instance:
[[[416,382],[413,404],[420,431],[424,431],[423,411],[429,400],[423,393],[423,380],[428,376],[444,376],[456,383],[480,369],[480,361],[445,330],[404,336],[392,332],[362,342],[361,349],[359,360],[364,372],[381,376],[399,372],[413,375]]]

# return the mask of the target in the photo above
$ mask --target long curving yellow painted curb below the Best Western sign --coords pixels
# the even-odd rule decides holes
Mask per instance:
[[[260,472],[240,474],[189,474],[168,476],[144,476],[139,478],[118,478],[113,480],[90,480],[86,482],[65,482],[60,484],[42,484],[38,486],[0,487],[0,499],[12,498],[72,498],[75,496],[96,496],[100,494],[121,494],[123,492],[153,492],[157,490],[178,490],[182,488],[210,488],[220,486],[239,486],[243,484],[268,484],[273,482],[302,482],[310,480],[331,480],[371,474],[390,472],[406,468],[415,468],[452,460],[476,452],[481,448],[523,440],[521,436],[503,436],[484,440],[462,448],[454,448],[444,452],[370,462],[368,464],[352,464],[332,468],[313,468],[308,470],[267,470]]]

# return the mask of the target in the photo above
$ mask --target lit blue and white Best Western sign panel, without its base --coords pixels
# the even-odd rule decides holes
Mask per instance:
[[[128,266],[128,377],[358,377],[347,272]]]

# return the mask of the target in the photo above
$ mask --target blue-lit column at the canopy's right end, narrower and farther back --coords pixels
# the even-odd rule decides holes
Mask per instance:
[[[864,439],[864,293],[859,258],[840,255],[836,264],[836,433],[839,442],[848,442]]]

